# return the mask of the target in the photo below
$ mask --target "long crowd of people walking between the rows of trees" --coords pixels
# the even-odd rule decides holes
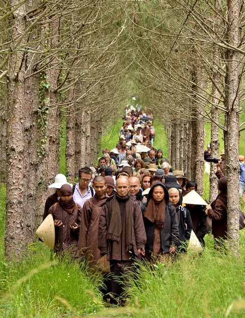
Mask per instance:
[[[216,164],[219,194],[209,205],[196,192],[197,183],[173,170],[163,151],[154,148],[151,112],[131,106],[123,119],[115,148],[104,149],[96,166],[81,168],[77,184],[56,176],[49,186],[56,191],[47,198],[43,215],[43,220],[48,214],[54,219],[55,253],[69,251],[92,271],[111,273],[105,281],[111,303],[124,297],[135,260],[174,261],[186,253],[191,231],[204,247],[207,217],[215,248],[227,238],[222,161]]]

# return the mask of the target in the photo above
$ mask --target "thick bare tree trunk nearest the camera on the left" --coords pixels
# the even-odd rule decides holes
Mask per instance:
[[[10,2],[11,7],[18,1]],[[13,13],[12,43],[24,34],[26,6],[19,7]],[[8,145],[7,145],[7,198],[6,198],[6,233],[5,256],[7,260],[19,259],[27,249],[26,229],[24,227],[24,69],[21,63],[23,51],[10,55],[8,89]]]

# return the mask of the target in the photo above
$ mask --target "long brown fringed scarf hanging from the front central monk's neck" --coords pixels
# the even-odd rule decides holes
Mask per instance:
[[[124,231],[126,237],[126,252],[133,248],[132,242],[132,213],[133,204],[128,193],[125,197],[120,197],[115,193],[111,205],[111,219],[108,228],[107,239],[119,242],[122,231],[120,203],[124,203]]]

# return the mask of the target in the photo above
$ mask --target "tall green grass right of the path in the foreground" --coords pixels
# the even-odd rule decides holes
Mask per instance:
[[[208,235],[202,256],[185,255],[165,266],[140,264],[129,294],[146,313],[135,317],[225,317],[234,301],[245,298],[243,243],[244,236],[239,259],[214,251]],[[233,308],[227,316],[244,317],[244,309]]]

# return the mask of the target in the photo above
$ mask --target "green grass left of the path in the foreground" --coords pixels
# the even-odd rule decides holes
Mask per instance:
[[[101,278],[89,274],[83,263],[63,260],[52,265],[42,242],[22,262],[1,262],[0,270],[1,317],[73,317],[104,307]]]

